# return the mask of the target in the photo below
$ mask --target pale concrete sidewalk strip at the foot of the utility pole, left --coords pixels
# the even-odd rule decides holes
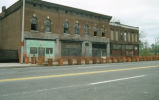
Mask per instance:
[[[20,64],[20,63],[0,63],[0,68],[11,68],[11,67],[31,67],[37,66],[36,64]]]

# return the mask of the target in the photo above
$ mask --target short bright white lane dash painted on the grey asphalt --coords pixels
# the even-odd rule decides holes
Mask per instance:
[[[144,76],[145,75],[140,75],[140,76],[120,78],[120,79],[114,79],[114,80],[108,80],[108,81],[102,81],[102,82],[95,82],[95,83],[90,83],[89,85],[98,85],[98,84],[104,84],[104,83],[111,83],[111,82],[117,82],[117,81],[123,81],[123,80],[135,79],[135,78],[141,78],[141,77],[144,77]]]

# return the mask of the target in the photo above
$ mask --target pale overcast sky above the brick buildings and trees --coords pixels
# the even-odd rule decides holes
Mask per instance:
[[[0,8],[18,0],[0,0]],[[159,37],[159,0],[44,0],[113,16],[121,23],[137,26],[150,44]],[[1,12],[1,9],[0,9]]]

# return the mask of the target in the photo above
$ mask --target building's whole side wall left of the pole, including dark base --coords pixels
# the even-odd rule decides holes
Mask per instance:
[[[18,58],[21,39],[21,10],[3,17],[0,21],[0,55],[3,59]]]

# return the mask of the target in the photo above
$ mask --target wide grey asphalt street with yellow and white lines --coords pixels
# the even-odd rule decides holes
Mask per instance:
[[[159,61],[4,66],[0,100],[159,100]]]

